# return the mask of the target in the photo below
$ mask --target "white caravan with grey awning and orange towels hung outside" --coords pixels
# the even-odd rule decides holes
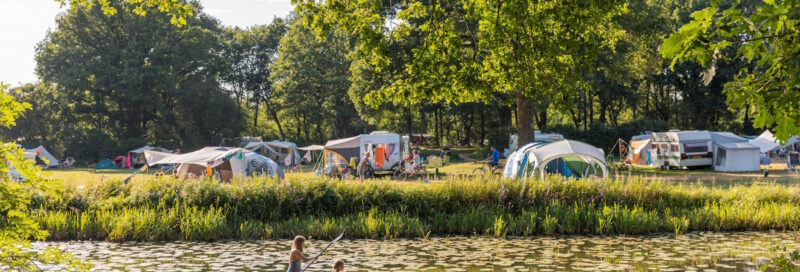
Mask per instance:
[[[373,132],[355,137],[331,140],[325,144],[325,167],[347,167],[351,158],[361,159],[372,154],[370,166],[375,171],[390,171],[400,167],[408,143],[400,134]]]

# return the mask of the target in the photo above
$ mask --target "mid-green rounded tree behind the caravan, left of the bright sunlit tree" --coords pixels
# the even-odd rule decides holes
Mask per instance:
[[[351,47],[350,38],[340,34],[317,39],[299,20],[281,39],[270,80],[283,114],[295,122],[297,139],[323,142],[365,132],[348,97]]]

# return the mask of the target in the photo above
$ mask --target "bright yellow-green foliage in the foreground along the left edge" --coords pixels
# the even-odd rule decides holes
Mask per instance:
[[[3,128],[13,127],[16,118],[31,107],[6,93],[7,87],[0,82],[0,127]],[[44,240],[48,235],[29,216],[31,197],[50,193],[53,185],[40,178],[41,169],[26,160],[23,152],[14,142],[3,142],[0,146],[0,267],[30,271],[38,269],[38,262],[66,265],[73,270],[88,269],[88,264],[58,249],[48,248],[42,252],[31,249],[31,239]],[[24,181],[12,179],[12,172],[24,177]]]

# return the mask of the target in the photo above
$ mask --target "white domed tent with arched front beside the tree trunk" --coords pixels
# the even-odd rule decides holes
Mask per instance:
[[[603,150],[574,140],[527,144],[508,161],[511,165],[507,163],[503,171],[505,178],[544,178],[548,174],[574,178],[608,176]]]

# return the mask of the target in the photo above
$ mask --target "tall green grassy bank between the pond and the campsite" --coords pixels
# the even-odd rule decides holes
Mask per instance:
[[[41,196],[51,239],[110,241],[796,230],[800,186],[629,179],[108,181]]]

